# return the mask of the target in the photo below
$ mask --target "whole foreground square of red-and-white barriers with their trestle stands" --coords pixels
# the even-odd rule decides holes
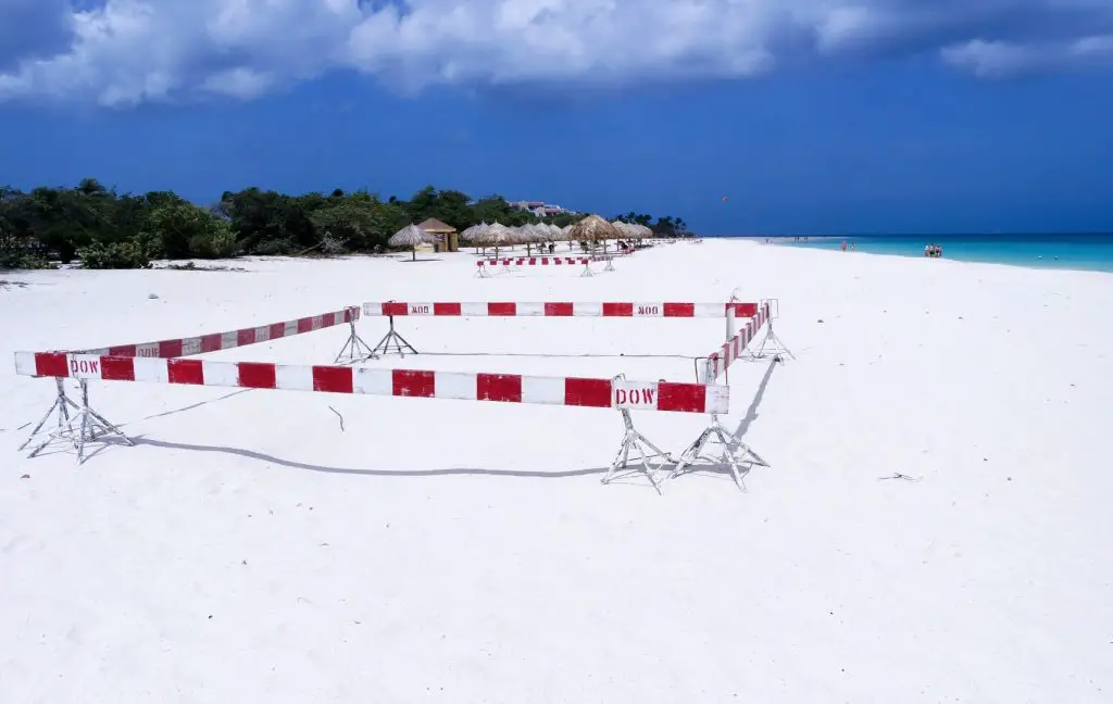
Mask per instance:
[[[587,261],[587,258],[581,261]],[[732,297],[733,298],[733,297]],[[770,305],[740,303],[516,303],[516,301],[380,301],[365,303],[363,315],[390,318],[390,331],[374,349],[358,338],[355,321],[361,317],[361,308],[348,307],[309,318],[301,318],[268,326],[245,328],[230,333],[203,335],[176,340],[161,340],[137,345],[121,345],[85,351],[16,353],[16,370],[22,376],[53,378],[57,396],[42,420],[31,432],[31,436],[20,447],[30,444],[39,430],[57,416],[57,429],[50,433],[32,453],[36,456],[51,440],[62,439],[73,444],[78,462],[85,457],[85,445],[90,440],[102,440],[116,436],[125,444],[131,440],[89,405],[89,380],[140,381],[150,384],[218,386],[254,389],[318,391],[332,394],[359,394],[394,397],[447,398],[457,400],[489,400],[515,404],[544,404],[556,406],[579,406],[612,408],[621,413],[626,434],[619,453],[610,470],[603,477],[608,483],[629,468],[629,456],[634,452],[641,459],[638,472],[643,472],[660,490],[653,474],[656,466],[651,458],[671,460],[671,455],[660,452],[657,446],[633,428],[631,410],[657,410],[672,413],[705,414],[711,417],[703,433],[686,449],[672,476],[686,472],[697,460],[707,459],[705,448],[709,443],[722,446],[723,462],[733,473],[735,482],[745,488],[739,465],[745,462],[768,466],[756,453],[730,435],[719,420],[729,412],[728,386],[718,385],[719,375],[738,359],[754,340],[758,330],[768,326],[766,339],[761,343],[761,356],[772,340],[779,354],[784,348],[772,331]],[[405,350],[416,353],[394,330],[395,316],[432,317],[610,317],[610,318],[725,318],[727,337],[722,348],[710,356],[700,371],[696,384],[670,381],[628,381],[624,376],[612,379],[578,377],[534,377],[509,374],[425,371],[414,369],[376,369],[351,366],[304,366],[279,365],[252,361],[210,361],[186,357],[209,351],[243,347],[246,345],[301,335],[341,324],[352,328],[339,358],[348,354],[351,360],[366,354],[375,357],[376,351],[387,354],[392,345],[400,354]],[[750,318],[741,331],[732,335],[737,317]],[[790,355],[791,353],[789,353]],[[359,358],[366,358],[359,356]],[[80,404],[67,394],[65,379],[73,379],[80,390]],[[71,409],[75,415],[71,415]]]

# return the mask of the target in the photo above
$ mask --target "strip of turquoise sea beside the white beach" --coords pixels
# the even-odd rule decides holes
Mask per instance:
[[[765,241],[767,238],[749,238]],[[870,235],[845,237],[770,237],[791,247],[923,257],[928,244],[943,247],[944,259],[989,261],[1022,267],[1113,271],[1113,234],[1105,235]]]

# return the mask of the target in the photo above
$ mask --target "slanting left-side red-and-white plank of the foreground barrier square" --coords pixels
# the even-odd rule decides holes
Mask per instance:
[[[325,313],[319,316],[298,318],[297,320],[286,320],[284,323],[273,323],[254,328],[232,330],[228,333],[214,333],[211,335],[199,335],[197,337],[184,337],[180,339],[160,340],[157,343],[139,343],[135,345],[116,345],[112,347],[101,347],[99,349],[73,350],[73,354],[97,355],[112,357],[145,357],[145,358],[171,358],[190,357],[205,353],[220,351],[234,347],[245,347],[259,343],[304,335],[314,330],[336,325],[355,323],[359,319],[359,308],[351,306],[343,310]]]

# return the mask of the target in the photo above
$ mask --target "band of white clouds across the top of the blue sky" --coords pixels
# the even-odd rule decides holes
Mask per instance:
[[[414,91],[735,78],[870,51],[982,77],[1113,66],[1113,0],[37,1],[53,43],[0,65],[0,100],[248,99],[335,69]],[[0,17],[30,2],[0,0]]]

